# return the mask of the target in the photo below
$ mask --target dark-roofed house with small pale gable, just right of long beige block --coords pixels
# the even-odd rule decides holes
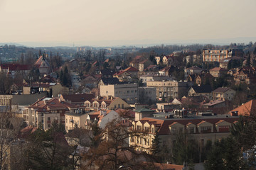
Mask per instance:
[[[212,98],[212,91],[213,89],[210,85],[191,86],[188,90],[188,96],[206,96]]]

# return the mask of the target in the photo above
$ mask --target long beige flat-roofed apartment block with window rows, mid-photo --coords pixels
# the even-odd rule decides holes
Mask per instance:
[[[156,99],[161,101],[169,98],[186,96],[188,88],[193,86],[191,81],[147,81],[147,87],[156,88]]]

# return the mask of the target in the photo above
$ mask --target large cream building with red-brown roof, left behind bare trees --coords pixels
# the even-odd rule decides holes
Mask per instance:
[[[54,121],[65,125],[65,113],[75,110],[75,106],[59,98],[42,98],[26,107],[22,115],[27,125],[43,125],[43,129],[48,130]]]

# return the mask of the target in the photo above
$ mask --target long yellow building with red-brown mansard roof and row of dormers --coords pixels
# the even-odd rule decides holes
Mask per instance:
[[[137,151],[151,154],[152,141],[158,132],[160,145],[172,147],[176,142],[178,132],[188,132],[191,140],[196,140],[201,147],[208,140],[216,141],[230,135],[230,127],[238,120],[238,116],[226,118],[225,116],[198,116],[198,118],[142,118],[132,122],[132,130],[147,132],[143,136],[129,136],[129,145]]]

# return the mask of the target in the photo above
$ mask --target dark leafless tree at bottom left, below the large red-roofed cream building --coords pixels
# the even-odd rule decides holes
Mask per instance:
[[[29,138],[27,164],[31,169],[64,169],[70,165],[72,149],[64,137],[65,127],[56,123],[47,131],[40,126]]]

